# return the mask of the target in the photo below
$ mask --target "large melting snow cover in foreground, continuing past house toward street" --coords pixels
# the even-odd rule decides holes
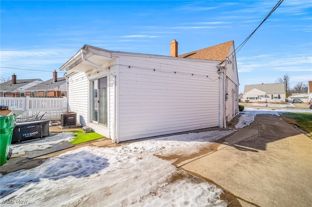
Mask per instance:
[[[235,128],[249,125],[256,114],[278,116],[283,112],[288,111],[245,108]],[[222,190],[176,169],[172,165],[175,160],[155,155],[191,155],[234,131],[190,133],[119,147],[87,146],[68,151],[36,168],[1,175],[0,197],[7,201],[2,206],[227,206],[227,201],[220,200]],[[58,141],[68,134],[49,139]]]

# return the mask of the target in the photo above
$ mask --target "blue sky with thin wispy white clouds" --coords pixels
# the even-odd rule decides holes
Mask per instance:
[[[170,55],[234,40],[237,48],[278,0],[0,1],[0,78],[52,78],[83,45]],[[284,0],[237,52],[239,92],[312,80],[312,0]],[[42,70],[42,71],[34,71]]]

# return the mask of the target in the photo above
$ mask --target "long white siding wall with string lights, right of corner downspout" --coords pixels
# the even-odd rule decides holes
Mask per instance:
[[[218,126],[215,62],[148,57],[119,62],[120,141]]]

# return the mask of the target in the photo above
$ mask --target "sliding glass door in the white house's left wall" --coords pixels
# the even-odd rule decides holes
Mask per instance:
[[[92,120],[107,126],[107,77],[92,81]]]

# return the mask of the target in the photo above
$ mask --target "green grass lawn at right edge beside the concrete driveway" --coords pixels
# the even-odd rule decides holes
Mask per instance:
[[[282,113],[283,120],[290,124],[296,124],[301,130],[312,136],[312,114],[311,113]]]

